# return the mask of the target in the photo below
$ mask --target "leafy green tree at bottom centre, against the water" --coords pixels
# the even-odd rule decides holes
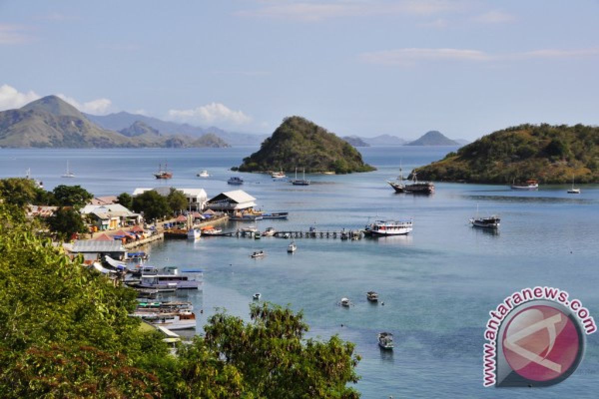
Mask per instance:
[[[337,336],[327,342],[304,339],[301,312],[253,304],[253,323],[223,313],[204,327],[208,348],[235,366],[254,394],[267,398],[358,398],[347,387],[358,382],[355,346]]]

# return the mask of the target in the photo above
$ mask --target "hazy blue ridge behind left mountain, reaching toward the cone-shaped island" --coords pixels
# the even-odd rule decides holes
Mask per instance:
[[[117,112],[108,115],[84,114],[87,119],[98,126],[109,130],[123,130],[135,122],[143,122],[146,126],[158,130],[162,134],[180,134],[199,137],[206,133],[213,133],[231,145],[259,145],[268,135],[255,135],[252,133],[227,132],[215,126],[199,127],[187,123],[168,122],[158,118],[129,112]]]

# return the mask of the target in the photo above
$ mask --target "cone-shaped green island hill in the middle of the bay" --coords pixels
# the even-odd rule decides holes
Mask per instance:
[[[260,150],[243,160],[239,170],[244,172],[295,170],[308,173],[369,172],[374,167],[364,163],[362,155],[351,144],[334,133],[302,117],[288,117]]]

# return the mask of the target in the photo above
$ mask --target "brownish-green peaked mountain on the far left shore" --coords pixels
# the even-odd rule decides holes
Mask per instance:
[[[57,96],[0,112],[0,147],[228,147],[213,134],[164,135],[139,120],[121,130],[97,126]]]

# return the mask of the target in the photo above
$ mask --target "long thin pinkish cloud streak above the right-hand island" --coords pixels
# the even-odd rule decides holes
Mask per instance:
[[[599,48],[578,50],[544,49],[520,53],[489,54],[479,50],[461,48],[398,48],[359,54],[362,62],[377,65],[415,65],[419,61],[454,60],[483,62],[492,60],[522,60],[537,58],[575,58],[599,56]]]

